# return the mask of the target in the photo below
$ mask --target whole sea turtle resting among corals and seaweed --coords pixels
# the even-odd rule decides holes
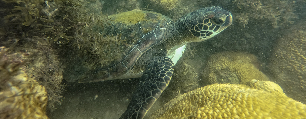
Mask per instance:
[[[168,86],[174,65],[187,43],[207,40],[232,24],[232,14],[217,6],[190,12],[176,22],[146,11],[122,12],[108,18],[103,28],[94,29],[100,30],[102,36],[125,39],[124,49],[113,51],[118,55],[108,59],[108,65],[89,67],[64,78],[96,82],[140,77],[140,84],[120,119],[145,116]]]

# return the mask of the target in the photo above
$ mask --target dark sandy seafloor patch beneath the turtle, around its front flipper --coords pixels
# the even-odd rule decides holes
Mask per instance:
[[[129,104],[137,79],[71,83],[65,88],[61,105],[49,113],[50,119],[118,119]],[[121,83],[122,82],[122,83]],[[162,105],[157,100],[146,116]]]

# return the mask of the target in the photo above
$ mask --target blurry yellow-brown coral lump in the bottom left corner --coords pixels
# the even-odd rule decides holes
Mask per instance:
[[[14,54],[0,47],[0,119],[48,119],[47,92],[21,70]]]

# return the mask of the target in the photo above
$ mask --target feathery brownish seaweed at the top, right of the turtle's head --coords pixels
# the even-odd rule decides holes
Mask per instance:
[[[237,6],[236,10],[241,14],[237,14],[236,18],[240,23],[246,25],[248,18],[263,19],[266,18],[270,21],[274,28],[292,24],[293,19],[298,16],[294,13],[294,2],[283,0],[235,0],[233,4]],[[248,16],[245,17],[245,16]]]

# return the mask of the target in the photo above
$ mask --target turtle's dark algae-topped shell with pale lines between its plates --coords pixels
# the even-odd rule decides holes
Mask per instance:
[[[122,12],[106,19],[109,20],[103,22],[103,27],[96,26],[93,31],[101,34],[101,40],[110,40],[100,47],[109,47],[114,43],[117,46],[106,48],[101,57],[95,59],[96,65],[83,63],[79,73],[65,78],[67,81],[95,82],[140,77],[141,71],[132,71],[135,70],[134,64],[141,54],[162,40],[167,24],[172,22],[167,16],[147,11]]]

